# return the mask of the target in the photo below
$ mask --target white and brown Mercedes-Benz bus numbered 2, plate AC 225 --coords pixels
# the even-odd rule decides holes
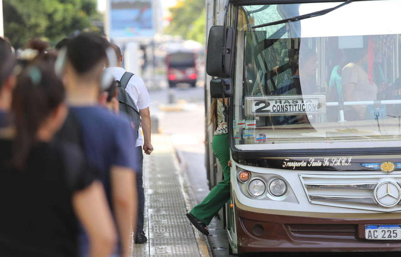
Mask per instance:
[[[207,107],[229,96],[230,250],[401,251],[401,1],[206,8]]]

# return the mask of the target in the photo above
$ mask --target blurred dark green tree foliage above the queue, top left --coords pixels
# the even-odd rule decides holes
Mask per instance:
[[[88,28],[96,5],[96,0],[3,1],[4,36],[16,48],[35,36],[54,45],[75,30]]]

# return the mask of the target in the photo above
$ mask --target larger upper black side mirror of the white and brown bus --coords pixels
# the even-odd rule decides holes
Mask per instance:
[[[210,76],[228,77],[231,72],[234,50],[234,28],[226,26],[226,47],[223,48],[224,26],[212,26],[209,32],[206,55],[206,72]]]

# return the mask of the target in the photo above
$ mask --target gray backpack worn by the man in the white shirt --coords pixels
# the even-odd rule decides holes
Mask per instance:
[[[125,113],[128,119],[132,122],[136,130],[136,138],[138,138],[139,127],[141,125],[141,116],[138,109],[136,109],[134,100],[132,100],[132,98],[130,97],[130,95],[128,95],[128,92],[126,91],[128,81],[130,81],[133,75],[134,73],[126,72],[121,77],[121,80],[116,80],[114,82],[117,83],[117,100],[120,103],[120,112]]]

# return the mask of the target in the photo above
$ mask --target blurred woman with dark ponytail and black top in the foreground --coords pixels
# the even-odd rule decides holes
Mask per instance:
[[[75,146],[52,142],[67,107],[53,67],[18,76],[14,137],[0,131],[0,256],[79,256],[78,220],[91,256],[109,256],[116,231],[101,183]]]

